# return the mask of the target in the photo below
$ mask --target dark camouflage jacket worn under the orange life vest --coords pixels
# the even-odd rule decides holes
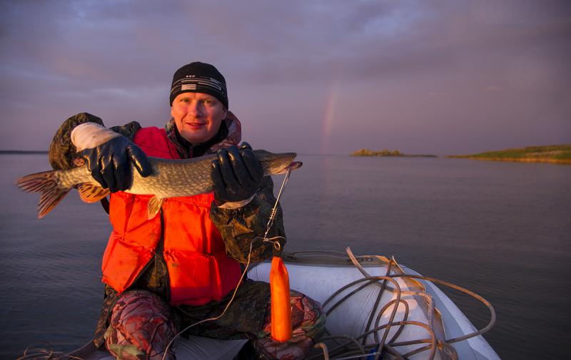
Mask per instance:
[[[71,143],[71,130],[82,123],[98,123],[103,125],[101,118],[89,113],[79,113],[71,116],[57,130],[49,148],[49,161],[54,170],[68,170],[81,165],[81,155],[76,153],[76,148]],[[230,112],[228,118],[223,121],[218,134],[208,143],[200,147],[193,147],[178,134],[176,125],[171,119],[165,126],[168,138],[176,146],[181,158],[191,158],[207,153],[214,153],[220,148],[239,143],[241,140],[241,125],[239,120]],[[141,125],[135,121],[123,126],[112,127],[111,130],[120,133],[129,140],[133,140],[136,132],[141,129]],[[271,215],[276,198],[273,195],[273,182],[270,177],[263,179],[256,196],[247,205],[238,209],[224,209],[218,207],[213,202],[210,217],[214,225],[221,232],[226,244],[226,252],[229,257],[238,262],[246,263],[251,241],[259,236],[263,237],[266,232],[266,224]],[[283,229],[283,217],[281,208],[278,208],[276,221],[268,233],[269,237],[283,237],[282,245],[285,244],[285,232]],[[283,246],[282,246],[283,249]],[[251,254],[251,262],[259,262],[268,259],[273,254],[273,246],[268,242],[254,242]],[[156,294],[166,296],[167,272],[161,256],[151,259],[153,266],[148,267],[145,273],[141,274],[138,281],[131,287],[136,289],[148,289]],[[103,343],[103,334],[106,331],[108,317],[111,314],[113,304],[116,302],[116,291],[111,287],[106,287],[103,309],[99,319],[95,344],[100,346]],[[266,295],[264,295],[266,296]]]

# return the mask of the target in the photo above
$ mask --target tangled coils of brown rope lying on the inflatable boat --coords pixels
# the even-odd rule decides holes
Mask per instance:
[[[415,274],[391,274],[391,268],[393,264],[397,264],[394,258],[391,258],[388,262],[387,271],[385,276],[371,276],[368,272],[365,271],[364,267],[360,264],[359,259],[355,257],[353,252],[350,250],[350,247],[346,249],[347,256],[349,257],[350,261],[355,265],[355,267],[363,274],[362,279],[357,279],[349,284],[338,289],[335,293],[333,293],[325,302],[323,302],[323,307],[325,308],[330,304],[326,314],[330,315],[336,308],[346,302],[348,299],[353,297],[358,292],[362,291],[363,289],[369,287],[371,284],[376,284],[379,287],[379,292],[377,294],[377,298],[375,299],[375,304],[373,305],[373,309],[370,312],[370,317],[368,319],[367,325],[365,327],[365,332],[360,334],[359,336],[348,336],[348,335],[336,335],[330,334],[329,331],[325,330],[325,334],[327,336],[320,339],[318,344],[315,344],[316,349],[320,349],[321,351],[318,354],[314,354],[309,356],[307,360],[315,360],[315,359],[325,359],[325,360],[348,360],[348,359],[380,359],[383,354],[390,354],[395,357],[395,359],[405,360],[408,359],[409,356],[413,356],[415,354],[420,354],[424,351],[427,351],[428,354],[426,359],[433,360],[436,355],[436,351],[442,351],[440,354],[445,356],[446,359],[458,359],[458,354],[456,353],[454,347],[452,346],[453,343],[458,341],[463,341],[466,339],[470,339],[475,336],[480,336],[484,334],[486,331],[489,331],[492,326],[495,324],[495,310],[492,307],[492,304],[488,302],[486,299],[481,297],[480,295],[476,294],[475,292],[470,291],[469,289],[465,289],[464,287],[460,287],[458,285],[452,284],[450,282],[445,282],[443,280],[435,279],[433,277],[425,277],[422,275],[415,275]],[[320,252],[323,254],[323,252]],[[335,255],[339,255],[342,253],[339,252],[330,252]],[[291,254],[291,256],[295,257],[295,253]],[[365,255],[360,256],[360,260],[363,259],[371,260],[371,259],[381,259],[383,257],[375,256],[375,255]],[[384,261],[384,260],[383,260]],[[433,312],[434,312],[434,300],[430,297],[429,294],[421,291],[410,291],[410,290],[401,290],[396,278],[408,278],[408,279],[420,279],[425,280],[428,282],[433,282],[435,284],[444,285],[445,287],[450,287],[451,289],[458,290],[459,292],[463,292],[464,294],[470,295],[470,297],[474,297],[475,299],[479,300],[490,310],[490,322],[480,330],[474,331],[470,334],[465,334],[463,336],[458,336],[452,339],[445,339],[439,340],[436,338],[435,333],[433,331]],[[388,286],[389,283],[394,284],[394,287]],[[360,284],[357,288],[353,289],[348,294],[345,294],[341,299],[337,302],[333,303],[333,299],[338,297],[340,294],[345,292],[345,290],[349,289],[350,287],[354,287],[355,285]],[[395,293],[395,299],[391,300],[385,306],[383,306],[378,314],[375,315],[377,312],[378,306],[380,304],[380,298],[382,297],[385,291]],[[401,299],[401,295],[414,295],[414,296],[422,296],[425,297],[428,304],[428,324],[423,322],[414,322],[408,320],[409,315],[409,308],[408,302]],[[395,322],[395,314],[397,312],[398,307],[400,304],[403,304],[405,311],[403,313],[403,320]],[[392,307],[392,311],[390,312],[390,316],[388,322],[386,324],[380,324],[380,319],[383,317],[383,314],[388,311],[388,309]],[[373,327],[371,327],[373,325]],[[393,326],[398,326],[397,331],[388,339],[388,334]],[[418,340],[410,340],[410,341],[398,341],[398,337],[402,333],[405,326],[420,326],[428,332],[429,337],[427,339],[418,339]],[[368,336],[373,334],[374,342],[367,342]],[[344,340],[344,341],[342,341]],[[330,344],[330,348],[325,344],[324,341],[328,341]],[[399,346],[410,346],[410,345],[423,345],[413,351],[408,351],[405,354],[400,354],[395,348]],[[374,357],[373,357],[374,356]]]

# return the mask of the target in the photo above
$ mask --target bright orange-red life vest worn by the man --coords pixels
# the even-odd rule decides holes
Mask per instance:
[[[164,129],[138,130],[134,143],[148,156],[179,158]],[[220,232],[210,220],[213,193],[166,199],[161,213],[148,220],[150,199],[150,195],[111,194],[113,232],[103,254],[102,281],[120,293],[128,289],[162,240],[171,305],[206,304],[231,292],[241,269],[226,255]]]

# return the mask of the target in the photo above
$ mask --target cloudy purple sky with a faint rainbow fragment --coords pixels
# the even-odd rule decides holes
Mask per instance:
[[[571,143],[565,0],[3,0],[0,46],[0,150],[46,150],[84,111],[163,126],[191,61],[226,76],[255,148]]]

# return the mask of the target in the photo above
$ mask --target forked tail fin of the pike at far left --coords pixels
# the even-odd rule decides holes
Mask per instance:
[[[26,192],[40,192],[38,218],[46,216],[67,195],[71,187],[60,187],[54,178],[56,171],[44,171],[26,175],[16,181],[16,185]]]

